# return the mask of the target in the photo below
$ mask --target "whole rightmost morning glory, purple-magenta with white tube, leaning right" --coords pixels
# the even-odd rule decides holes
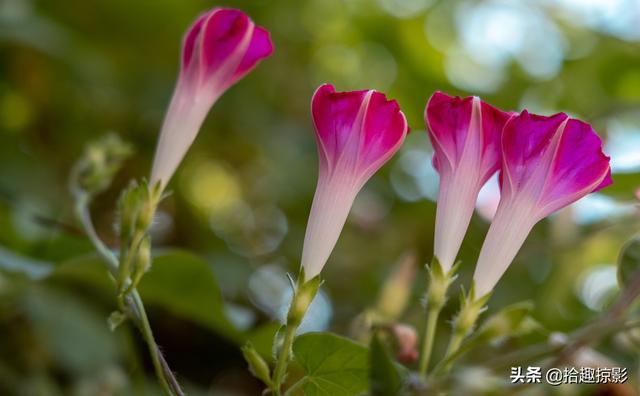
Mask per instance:
[[[525,110],[502,133],[500,182],[473,277],[479,297],[493,289],[538,221],[612,181],[609,157],[589,124]]]

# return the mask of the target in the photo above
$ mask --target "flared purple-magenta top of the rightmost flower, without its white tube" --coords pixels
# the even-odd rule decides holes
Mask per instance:
[[[523,111],[506,125],[502,143],[502,194],[532,200],[538,220],[611,184],[600,137],[564,113]]]

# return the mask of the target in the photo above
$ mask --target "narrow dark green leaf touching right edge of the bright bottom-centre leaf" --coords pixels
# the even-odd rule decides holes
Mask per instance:
[[[396,364],[389,349],[379,334],[371,338],[371,394],[373,396],[392,396],[400,394],[406,370]]]

